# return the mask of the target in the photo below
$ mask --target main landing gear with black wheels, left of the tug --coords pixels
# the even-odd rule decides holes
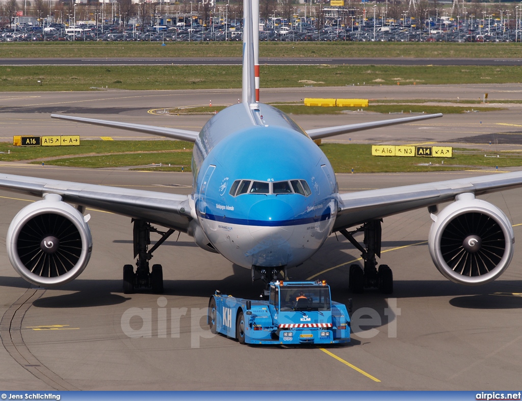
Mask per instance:
[[[163,269],[161,265],[152,265],[149,270],[149,260],[154,252],[167,238],[174,232],[170,229],[167,232],[158,231],[152,227],[148,221],[135,220],[134,222],[134,257],[136,260],[136,272],[132,265],[123,267],[123,293],[133,294],[135,290],[146,288],[155,294],[163,293]],[[150,249],[150,232],[161,234],[160,240]]]

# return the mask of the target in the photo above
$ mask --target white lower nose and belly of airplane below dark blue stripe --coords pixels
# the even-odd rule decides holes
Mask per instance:
[[[251,268],[293,267],[309,259],[326,241],[334,219],[281,227],[249,226],[201,219],[209,241],[234,264]]]

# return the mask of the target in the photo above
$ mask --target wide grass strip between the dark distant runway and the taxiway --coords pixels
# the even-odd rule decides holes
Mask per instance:
[[[260,71],[262,87],[302,87],[311,81],[314,86],[514,83],[522,77],[521,66],[262,66]],[[0,66],[0,91],[229,89],[240,88],[241,81],[241,66]]]

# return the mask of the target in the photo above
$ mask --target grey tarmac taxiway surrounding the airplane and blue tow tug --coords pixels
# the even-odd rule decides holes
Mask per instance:
[[[490,96],[493,93],[497,99],[504,96],[514,100],[522,94],[520,85],[381,88],[265,90],[262,96],[266,102],[283,102],[328,93],[339,97],[366,93],[372,97],[413,99],[426,93],[444,98],[451,91],[472,99],[482,91],[490,91]],[[237,91],[210,93],[213,104],[233,103],[238,96]],[[178,119],[150,115],[147,110],[204,104],[208,97],[208,91],[3,93],[0,124],[9,135],[63,129],[85,135],[86,139],[139,139],[139,134],[51,120],[49,110],[82,116],[96,116],[105,110],[101,118],[197,130],[208,116]],[[347,119],[383,118],[367,113],[301,117],[306,116],[295,119],[305,129],[336,125]],[[59,129],[58,124],[64,128]],[[362,132],[341,141],[446,142],[478,132],[519,130],[517,124],[520,109],[515,105],[491,114],[445,116],[422,126],[406,124],[400,130]],[[4,140],[10,137],[6,135]],[[26,176],[184,194],[191,191],[192,183],[189,173],[88,170],[18,162],[2,162],[0,169]],[[355,173],[339,174],[337,180],[340,192],[352,192],[490,173],[496,172]],[[522,190],[482,197],[504,210],[516,237],[522,227],[520,196]],[[33,200],[0,192],[2,244],[11,219]],[[59,289],[31,289],[10,266],[5,246],[0,247],[0,337],[4,345],[0,347],[0,385],[6,390],[497,390],[516,389],[519,385],[522,251],[516,244],[512,264],[499,280],[479,287],[461,286],[444,279],[433,266],[426,245],[431,225],[428,210],[386,218],[381,262],[394,271],[395,291],[393,297],[385,298],[376,291],[362,295],[348,292],[348,269],[358,262],[360,253],[342,237],[330,236],[311,260],[290,269],[289,275],[296,280],[327,280],[338,302],[347,303],[353,298],[357,318],[352,324],[351,345],[326,348],[336,359],[316,347],[242,346],[221,335],[210,335],[203,316],[215,290],[255,297],[262,287],[251,282],[250,270],[205,252],[185,234],[177,240],[171,237],[152,259],[163,265],[165,299],[147,292],[124,295],[122,267],[133,260],[131,219],[98,210],[87,212],[91,214],[94,242],[89,266],[78,279]],[[162,308],[167,309],[165,332],[158,318]],[[142,331],[147,329],[144,321],[148,317],[150,333]]]

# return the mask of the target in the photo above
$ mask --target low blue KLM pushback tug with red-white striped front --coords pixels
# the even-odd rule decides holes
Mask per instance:
[[[216,293],[208,323],[247,344],[339,344],[350,342],[346,306],[331,301],[324,281],[272,281],[269,300],[247,300]]]

